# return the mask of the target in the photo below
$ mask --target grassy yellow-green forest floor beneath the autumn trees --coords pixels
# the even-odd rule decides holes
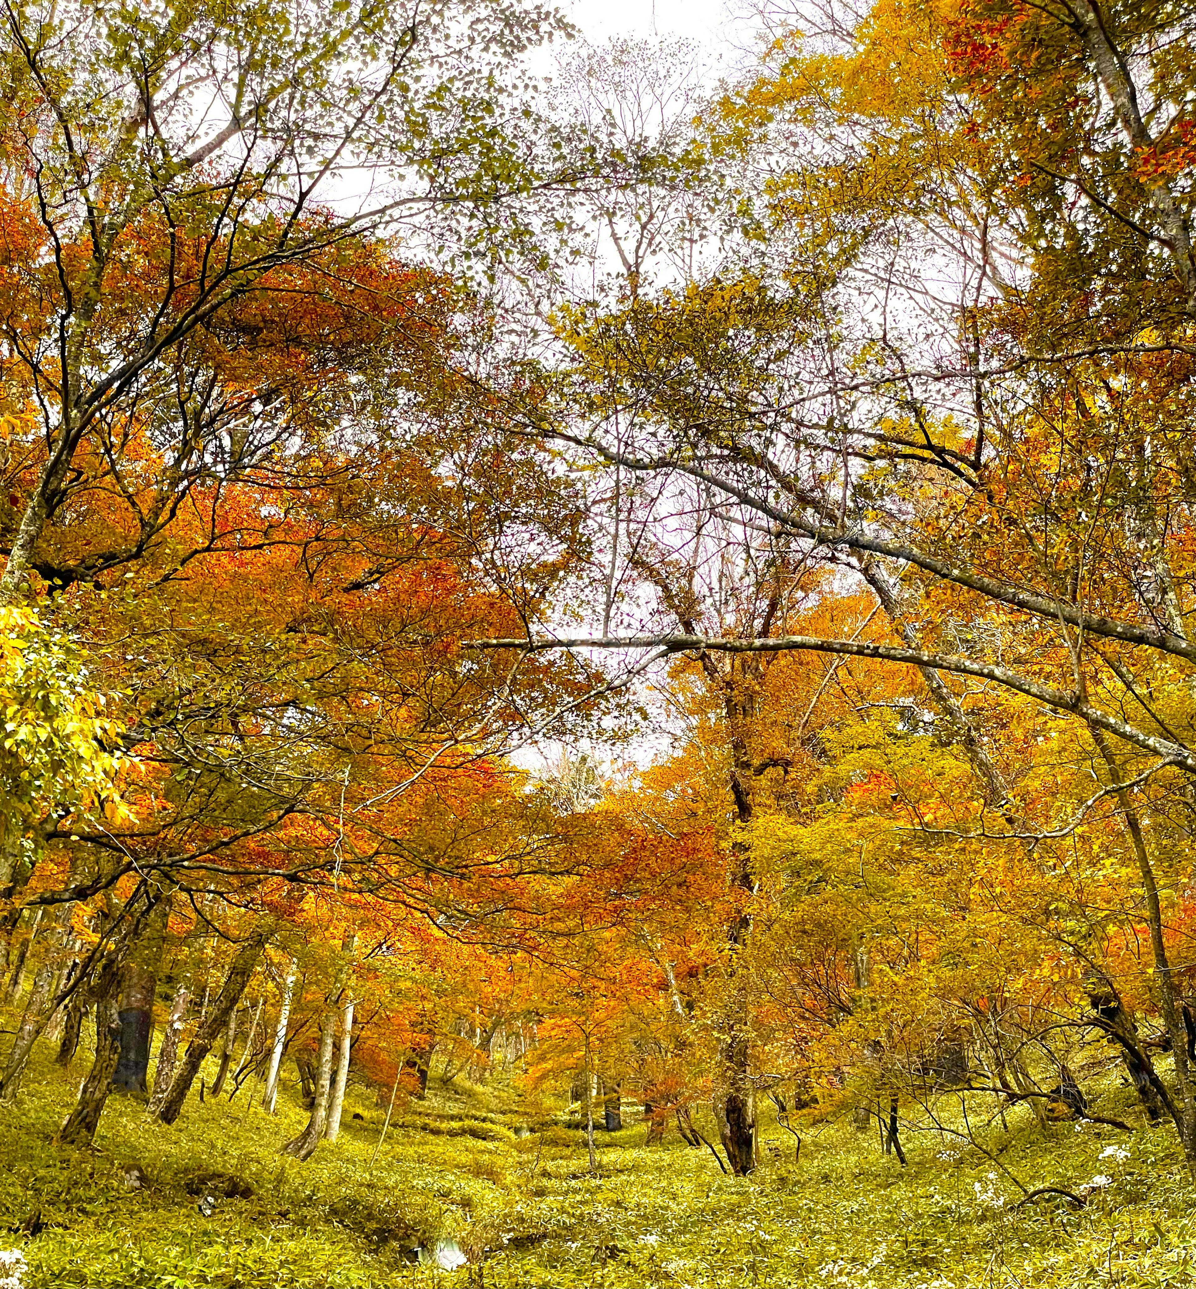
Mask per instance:
[[[461,1080],[402,1106],[372,1167],[384,1107],[352,1088],[340,1139],[305,1164],[277,1154],[305,1121],[287,1087],[275,1118],[246,1109],[245,1088],[232,1102],[192,1097],[174,1128],[113,1097],[92,1150],[54,1147],[84,1069],[80,1054],[64,1076],[46,1045],[0,1110],[0,1226],[15,1232],[0,1244],[24,1252],[28,1289],[1196,1284],[1196,1188],[1165,1128],[1062,1123],[1044,1137],[1016,1110],[1008,1134],[998,1125],[985,1141],[1026,1186],[1108,1178],[1084,1209],[1018,1209],[1017,1187],[958,1139],[907,1130],[902,1169],[875,1129],[844,1121],[804,1129],[798,1167],[791,1138],[766,1129],[746,1181],[673,1132],[644,1148],[637,1121],[597,1134],[592,1177],[584,1136],[559,1115]],[[1112,1081],[1098,1112],[1137,1121]],[[126,1183],[134,1165],[139,1190]],[[44,1230],[19,1234],[37,1210]],[[414,1246],[446,1240],[468,1265],[411,1265]]]

